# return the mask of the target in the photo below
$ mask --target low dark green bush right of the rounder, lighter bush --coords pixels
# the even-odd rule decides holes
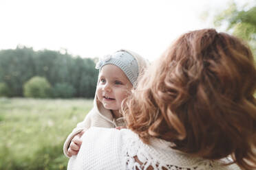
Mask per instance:
[[[54,97],[58,98],[74,97],[75,93],[76,89],[72,85],[67,83],[57,83],[53,89]]]

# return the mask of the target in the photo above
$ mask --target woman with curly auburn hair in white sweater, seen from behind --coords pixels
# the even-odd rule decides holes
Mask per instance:
[[[255,80],[244,42],[183,34],[124,102],[127,129],[87,130],[68,169],[254,169]]]

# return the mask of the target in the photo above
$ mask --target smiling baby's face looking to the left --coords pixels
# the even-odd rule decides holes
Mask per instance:
[[[105,108],[119,110],[122,100],[129,95],[131,88],[131,82],[118,66],[113,64],[103,66],[99,74],[96,94]]]

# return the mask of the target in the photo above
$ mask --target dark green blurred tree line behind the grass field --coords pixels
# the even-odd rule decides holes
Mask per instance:
[[[46,97],[92,98],[98,77],[94,60],[96,59],[74,57],[67,51],[34,51],[32,48],[19,46],[16,49],[1,50],[0,95],[24,97],[25,84],[27,88],[33,86],[36,91],[44,86],[41,81],[43,79],[49,88]],[[30,92],[33,93],[33,89]]]

